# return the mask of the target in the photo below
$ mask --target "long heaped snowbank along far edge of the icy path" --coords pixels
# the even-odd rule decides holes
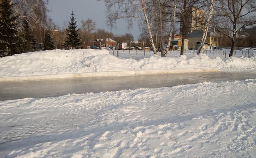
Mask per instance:
[[[206,55],[121,59],[107,50],[53,50],[24,53],[0,59],[0,77],[93,73],[133,70],[185,70],[216,68],[225,71],[256,69],[256,55],[222,60]]]

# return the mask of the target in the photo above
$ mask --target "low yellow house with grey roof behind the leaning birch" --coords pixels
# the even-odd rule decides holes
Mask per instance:
[[[192,33],[188,33],[188,49],[198,49],[198,46],[203,37],[203,30],[194,30]],[[217,45],[217,33],[207,33],[204,49],[213,49]]]

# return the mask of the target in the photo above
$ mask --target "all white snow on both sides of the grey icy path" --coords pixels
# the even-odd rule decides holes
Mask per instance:
[[[256,55],[54,50],[0,58],[0,78],[134,70],[256,71]],[[147,54],[148,53],[148,54]],[[176,53],[176,54],[175,54]],[[242,56],[242,57],[241,57]],[[248,54],[246,55],[248,56]],[[117,72],[116,72],[117,73]],[[154,82],[154,80],[152,81]],[[256,79],[0,101],[0,157],[256,157]]]

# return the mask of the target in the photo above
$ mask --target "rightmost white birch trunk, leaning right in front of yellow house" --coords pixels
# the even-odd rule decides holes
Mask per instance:
[[[205,26],[203,28],[203,37],[201,39],[200,46],[198,47],[197,54],[202,53],[202,48],[203,48],[203,45],[204,45],[204,43],[206,41],[206,37],[207,37],[208,29],[209,29],[209,23],[210,23],[210,20],[212,18],[212,15],[213,15],[214,2],[215,2],[215,0],[211,0],[211,5],[210,5],[210,10],[209,10],[208,18],[207,18],[207,21],[206,21]]]

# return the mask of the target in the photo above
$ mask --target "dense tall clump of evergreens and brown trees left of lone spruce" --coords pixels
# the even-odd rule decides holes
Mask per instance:
[[[47,0],[0,0],[0,57],[55,49]]]

